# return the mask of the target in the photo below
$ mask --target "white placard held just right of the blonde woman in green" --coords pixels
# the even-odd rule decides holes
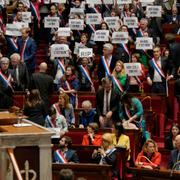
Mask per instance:
[[[124,69],[128,76],[141,76],[141,63],[124,63]]]

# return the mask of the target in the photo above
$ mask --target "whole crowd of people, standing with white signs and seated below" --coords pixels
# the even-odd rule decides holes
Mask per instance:
[[[115,146],[131,151],[124,129],[142,129],[145,144],[135,165],[159,168],[161,154],[150,139],[151,132],[146,129],[142,103],[129,93],[143,92],[147,82],[152,93],[168,95],[171,91],[168,83],[175,79],[175,94],[177,97],[180,94],[180,43],[176,41],[176,36],[180,35],[180,1],[145,3],[132,0],[124,4],[117,0],[107,4],[105,1],[93,4],[83,0],[2,2],[0,109],[12,107],[13,94],[24,91],[24,115],[30,121],[54,129],[60,136],[60,149],[54,154],[54,161],[59,163],[79,162],[76,152],[69,149],[71,139],[64,134],[68,128],[87,128],[82,145],[101,146],[94,151],[92,158],[99,164],[111,164],[114,176],[117,176]],[[148,16],[149,5],[160,6],[160,16]],[[29,18],[27,13],[30,13]],[[96,18],[88,19],[89,14]],[[111,19],[110,23],[107,17]],[[137,26],[130,27],[125,23],[126,18],[135,18]],[[170,34],[163,34],[164,23],[173,25]],[[108,32],[108,35],[102,33],[98,39],[97,31]],[[114,43],[114,34],[119,32],[126,41]],[[138,38],[150,38],[151,48],[137,48]],[[46,54],[44,62],[38,65],[36,53],[42,41],[46,44]],[[59,49],[55,51],[54,47]],[[140,75],[128,74],[127,63],[140,63]],[[83,101],[77,124],[74,109],[78,107],[78,91],[96,93],[96,108],[89,100]],[[58,92],[59,99],[51,104],[53,92]],[[113,128],[114,133],[100,135],[99,127]],[[179,133],[179,125],[173,124],[165,140],[166,148],[175,149],[171,153],[169,168],[180,167],[174,167],[180,159]]]

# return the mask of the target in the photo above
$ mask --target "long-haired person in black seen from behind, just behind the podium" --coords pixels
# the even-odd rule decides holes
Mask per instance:
[[[28,116],[28,119],[34,123],[45,125],[47,113],[38,89],[30,91],[24,105],[24,115]]]

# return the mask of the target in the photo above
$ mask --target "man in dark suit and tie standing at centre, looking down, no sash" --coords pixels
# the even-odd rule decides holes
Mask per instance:
[[[101,128],[111,127],[119,119],[119,100],[119,93],[112,89],[112,80],[103,78],[102,88],[96,94],[96,110]]]

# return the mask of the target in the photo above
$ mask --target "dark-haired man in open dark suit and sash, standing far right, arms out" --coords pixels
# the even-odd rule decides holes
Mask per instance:
[[[149,61],[147,83],[152,86],[153,93],[166,93],[166,83],[174,77],[174,67],[169,59],[161,57],[159,46],[153,49],[154,58]]]

